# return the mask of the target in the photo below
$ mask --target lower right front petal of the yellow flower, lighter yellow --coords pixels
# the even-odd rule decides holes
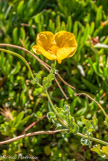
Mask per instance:
[[[57,51],[58,63],[60,64],[63,59],[73,56],[75,54],[75,52],[76,52],[76,47],[60,48]]]

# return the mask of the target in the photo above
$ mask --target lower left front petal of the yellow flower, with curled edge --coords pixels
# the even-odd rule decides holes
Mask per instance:
[[[42,48],[41,46],[35,45],[32,47],[32,49],[35,53],[42,54],[49,60],[56,60],[57,59],[57,56],[55,54],[52,54],[52,53],[44,50],[44,48]]]

